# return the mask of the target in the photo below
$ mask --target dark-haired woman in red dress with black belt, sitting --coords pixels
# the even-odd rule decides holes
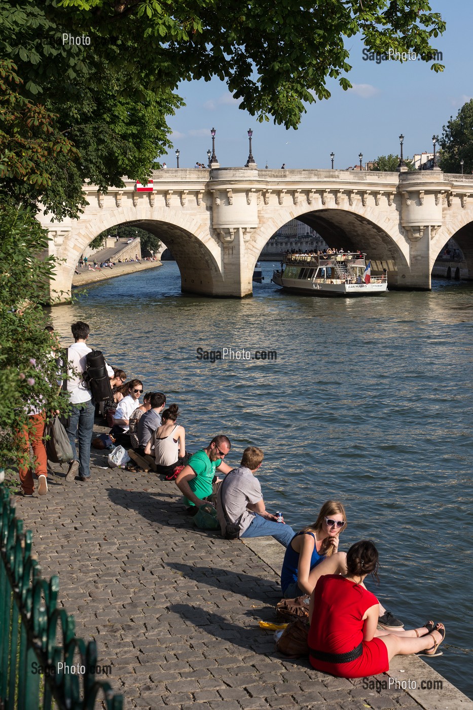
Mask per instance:
[[[347,574],[326,574],[310,598],[310,663],[342,678],[361,678],[389,670],[395,655],[437,656],[445,626],[428,621],[411,630],[376,630],[379,603],[362,585],[367,574],[378,580],[378,551],[361,540],[347,552]]]

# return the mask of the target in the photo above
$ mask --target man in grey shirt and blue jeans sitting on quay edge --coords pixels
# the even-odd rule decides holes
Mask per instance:
[[[278,523],[276,515],[266,511],[259,480],[253,475],[263,462],[263,452],[250,446],[243,452],[238,469],[233,469],[217,491],[217,518],[225,534],[227,522],[239,521],[240,537],[271,535],[288,547],[294,537],[289,525]],[[227,519],[226,519],[227,518]]]

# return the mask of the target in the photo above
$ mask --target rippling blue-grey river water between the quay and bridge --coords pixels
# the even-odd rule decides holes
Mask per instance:
[[[473,697],[473,285],[317,299],[282,293],[275,266],[253,298],[214,300],[182,295],[167,262],[89,287],[53,322],[67,344],[85,320],[110,364],[177,402],[187,449],[224,433],[237,465],[261,447],[266,506],[295,530],[341,500],[340,549],[376,542],[381,586],[368,586],[406,628],[445,623],[430,664]],[[277,359],[212,364],[197,348]]]

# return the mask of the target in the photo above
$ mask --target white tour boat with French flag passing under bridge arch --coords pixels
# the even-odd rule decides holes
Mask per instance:
[[[312,296],[365,296],[386,293],[387,274],[371,276],[366,254],[287,254],[273,283],[292,293]]]

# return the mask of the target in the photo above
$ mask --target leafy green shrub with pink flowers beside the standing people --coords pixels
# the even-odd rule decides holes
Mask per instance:
[[[59,393],[58,342],[44,330],[53,258],[34,210],[0,206],[0,468],[18,460],[16,432],[28,426],[29,405],[67,411]]]

